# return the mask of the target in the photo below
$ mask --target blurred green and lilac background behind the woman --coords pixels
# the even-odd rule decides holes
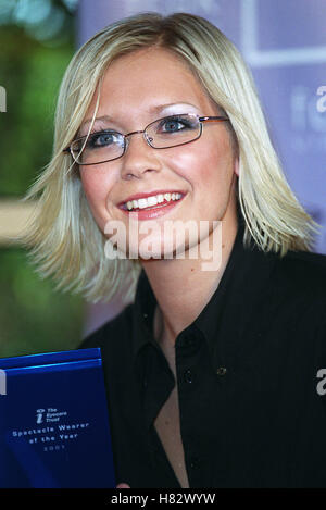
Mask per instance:
[[[326,253],[325,0],[0,0],[0,357],[76,348],[120,311],[58,293],[11,242],[20,202],[52,150],[53,113],[73,53],[130,14],[175,11],[218,26],[250,65],[288,182],[323,225]]]

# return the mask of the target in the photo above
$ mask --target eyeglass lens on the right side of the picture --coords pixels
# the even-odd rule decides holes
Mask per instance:
[[[200,137],[200,122],[196,115],[167,116],[150,124],[147,136],[155,149],[179,146]]]

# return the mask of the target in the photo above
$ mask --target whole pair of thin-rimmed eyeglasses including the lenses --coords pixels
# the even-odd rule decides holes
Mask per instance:
[[[226,116],[199,116],[195,113],[170,115],[151,122],[143,130],[123,135],[114,129],[103,129],[82,136],[74,140],[63,152],[71,153],[79,165],[100,164],[117,160],[126,152],[129,137],[142,134],[146,142],[153,149],[170,149],[198,140],[204,122],[229,121]]]

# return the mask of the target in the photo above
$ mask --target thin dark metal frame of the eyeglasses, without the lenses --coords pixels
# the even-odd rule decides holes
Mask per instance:
[[[155,124],[156,122],[160,122],[160,121],[163,121],[164,119],[174,119],[176,116],[181,116],[181,115],[189,115],[189,116],[193,116],[196,117],[199,123],[200,123],[200,130],[199,130],[199,135],[193,138],[192,140],[189,140],[189,141],[184,141],[183,144],[176,144],[176,145],[173,145],[173,146],[168,146],[168,147],[153,147],[151,145],[151,141],[150,141],[150,138],[148,137],[147,135],[147,129],[152,125],[152,124]],[[167,116],[163,116],[161,119],[156,119],[156,121],[153,121],[153,122],[150,122],[143,129],[141,130],[136,130],[136,132],[130,132],[130,133],[127,133],[126,135],[124,135],[123,133],[118,133],[118,132],[115,132],[117,133],[118,135],[121,135],[124,139],[124,151],[121,156],[117,156],[116,158],[113,158],[113,159],[110,159],[110,160],[104,160],[104,161],[99,161],[98,163],[78,163],[74,157],[74,151],[72,149],[72,145],[75,144],[76,141],[79,141],[79,140],[85,140],[87,139],[90,135],[95,135],[95,133],[89,133],[88,135],[84,135],[84,136],[80,136],[78,138],[76,138],[75,140],[72,141],[72,144],[66,147],[65,149],[63,149],[62,152],[64,153],[70,153],[73,158],[73,160],[75,161],[76,164],[78,164],[79,166],[87,166],[87,165],[95,165],[95,164],[102,164],[102,163],[108,163],[109,161],[115,161],[115,160],[118,160],[120,158],[122,158],[127,149],[128,149],[128,145],[129,145],[129,137],[133,136],[133,135],[139,135],[139,134],[142,134],[143,136],[143,139],[145,141],[147,142],[147,145],[149,145],[152,149],[156,149],[156,150],[160,150],[160,149],[171,149],[173,147],[180,147],[180,146],[185,146],[187,144],[191,144],[192,141],[196,141],[198,140],[201,135],[202,135],[202,126],[203,126],[203,123],[204,122],[224,122],[224,121],[227,121],[229,122],[229,119],[227,116],[224,116],[224,115],[205,115],[205,116],[199,116],[197,115],[196,113],[177,113],[177,114],[174,114],[174,115],[167,115]],[[100,133],[106,133],[105,129],[101,129],[99,132],[96,132],[97,134],[100,134]],[[82,149],[82,151],[84,150],[84,148]],[[82,152],[80,151],[80,152]]]

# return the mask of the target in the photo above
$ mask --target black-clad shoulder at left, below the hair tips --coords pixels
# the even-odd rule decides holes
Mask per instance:
[[[117,349],[123,351],[126,344],[131,340],[133,331],[133,303],[128,304],[114,319],[101,325],[88,335],[79,346],[79,349],[100,347],[103,351]],[[118,340],[118,341],[117,341]]]

